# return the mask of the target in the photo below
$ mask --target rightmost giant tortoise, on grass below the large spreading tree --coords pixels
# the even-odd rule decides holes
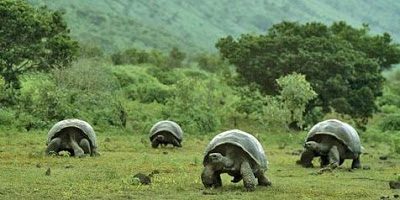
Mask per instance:
[[[360,168],[362,152],[357,131],[345,122],[329,119],[314,125],[308,132],[298,163],[312,167],[313,158],[320,156],[321,167],[330,165],[334,169],[345,159],[353,159],[351,168]]]

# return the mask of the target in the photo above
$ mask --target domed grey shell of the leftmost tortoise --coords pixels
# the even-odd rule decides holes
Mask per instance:
[[[47,134],[46,144],[49,144],[50,141],[58,132],[68,127],[75,127],[80,129],[82,133],[84,133],[89,138],[93,147],[97,147],[96,133],[94,132],[92,126],[90,126],[89,123],[79,119],[65,119],[54,124],[54,126],[50,129],[49,133]]]

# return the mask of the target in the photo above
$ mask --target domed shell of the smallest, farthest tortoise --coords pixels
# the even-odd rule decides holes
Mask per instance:
[[[171,133],[179,142],[182,142],[183,140],[183,131],[181,127],[177,123],[168,120],[159,121],[154,124],[153,127],[151,127],[149,133],[150,140],[152,140],[153,136],[161,131],[167,131]]]

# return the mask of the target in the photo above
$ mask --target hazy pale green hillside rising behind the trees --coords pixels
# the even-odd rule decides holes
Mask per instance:
[[[263,33],[282,20],[346,21],[400,39],[395,0],[28,0],[66,12],[72,35],[112,52],[130,47],[215,51],[226,35]]]

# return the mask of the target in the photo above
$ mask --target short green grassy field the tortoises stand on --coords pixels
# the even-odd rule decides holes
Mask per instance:
[[[400,158],[380,160],[389,153],[382,143],[363,144],[361,159],[370,170],[349,170],[351,161],[346,161],[333,172],[318,174],[318,168],[294,164],[304,133],[288,142],[265,133],[259,139],[270,162],[266,175],[272,186],[246,192],[242,182],[231,183],[228,175],[222,176],[221,189],[203,187],[202,154],[213,135],[186,136],[183,148],[153,149],[144,133],[98,131],[102,156],[73,158],[44,156],[46,134],[0,131],[0,199],[393,199],[400,194],[389,188]],[[132,175],[154,170],[159,174],[150,185],[132,181]]]

